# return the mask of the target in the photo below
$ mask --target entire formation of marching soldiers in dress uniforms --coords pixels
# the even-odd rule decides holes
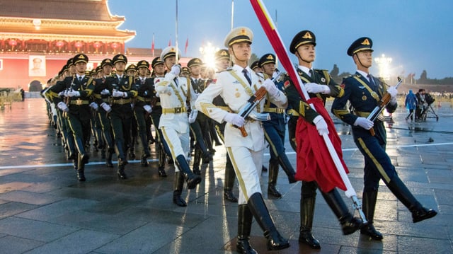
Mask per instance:
[[[199,58],[190,59],[187,67],[181,67],[180,51],[173,46],[166,47],[151,64],[141,60],[127,66],[127,57],[117,54],[112,59],[103,59],[89,73],[86,54],[69,59],[42,95],[48,103],[50,120],[61,134],[67,159],[74,161],[77,179],[86,180],[91,137],[95,149],[101,150],[105,166],[113,167],[116,154],[120,179],[127,179],[127,160],[136,157],[137,139],[142,148],[139,153],[142,166],[149,166],[149,145],[156,142],[159,176],[167,177],[165,163],[174,163],[173,203],[185,207],[187,203],[181,197],[184,182],[188,189],[193,189],[202,181],[200,163],[212,161],[214,144],[223,142],[227,151],[224,199],[238,202],[239,253],[256,253],[249,241],[253,218],[263,229],[268,250],[289,247],[287,238],[277,230],[260,187],[261,172],[267,170],[263,166],[265,141],[270,151],[268,197],[282,196],[277,189],[279,168],[286,173],[289,183],[302,180],[299,243],[321,248],[311,233],[318,189],[345,235],[360,230],[369,238],[382,240],[382,233],[373,226],[379,180],[409,209],[414,223],[437,214],[423,207],[398,177],[385,151],[382,118],[367,119],[387,93],[391,99],[386,110],[394,112],[397,107],[396,88],[387,87],[382,79],[369,73],[371,38],[361,37],[352,42],[347,53],[357,72],[338,84],[328,71],[313,69],[314,33],[303,30],[294,35],[289,51],[298,59],[297,74],[309,98],[299,92],[299,81],[275,68],[274,54],[264,54],[249,66],[252,42],[253,32],[249,28],[231,30],[224,40],[226,48],[215,54],[215,70],[205,67]],[[328,136],[347,168],[333,121],[324,108],[328,97],[335,98],[333,114],[352,126],[355,144],[365,158],[362,197],[366,224],[362,221],[365,218],[350,213],[340,197],[338,189],[345,190],[345,186],[332,159],[328,154],[316,154],[311,148]],[[421,93],[419,98],[426,100]],[[155,134],[151,133],[151,125]],[[296,168],[285,153],[286,129],[297,153]],[[239,197],[232,191],[235,179],[239,183]]]

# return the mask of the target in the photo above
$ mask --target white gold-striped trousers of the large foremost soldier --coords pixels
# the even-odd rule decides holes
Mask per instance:
[[[246,147],[226,147],[236,178],[239,181],[239,202],[247,204],[253,193],[261,192],[260,175],[263,169],[264,149],[251,151]]]

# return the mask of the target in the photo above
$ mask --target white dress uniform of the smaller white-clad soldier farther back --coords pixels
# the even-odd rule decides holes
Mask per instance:
[[[159,129],[164,134],[173,160],[179,155],[187,158],[190,152],[190,133],[186,102],[190,96],[190,108],[195,110],[197,94],[190,86],[190,80],[171,73],[164,78],[156,78],[155,83],[162,107]],[[179,171],[179,168],[176,167],[175,170]]]

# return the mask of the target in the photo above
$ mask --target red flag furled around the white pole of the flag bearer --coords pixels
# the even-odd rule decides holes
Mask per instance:
[[[253,10],[260,21],[261,26],[265,34],[267,35],[270,45],[273,46],[275,54],[280,59],[283,68],[288,72],[289,77],[294,82],[295,88],[299,92],[299,95],[303,100],[306,100],[304,94],[307,94],[306,91],[302,91],[301,80],[297,75],[296,69],[289,59],[288,53],[283,45],[282,39],[275,28],[275,25],[272,19],[269,16],[268,11],[265,9],[265,6],[260,3],[258,0],[250,0]],[[305,93],[304,93],[305,92]],[[308,96],[307,96],[308,97]],[[328,115],[326,108],[324,108],[323,103],[318,103],[314,99],[306,100],[308,103],[314,103],[316,112],[318,112],[328,124],[329,134],[328,137],[331,140],[323,140],[323,137],[319,136],[318,131],[314,125],[307,123],[305,120],[300,119],[297,122],[297,135],[299,137],[299,142],[297,142],[297,177],[299,180],[315,180],[318,183],[319,187],[323,192],[328,192],[333,189],[333,187],[339,187],[342,190],[347,190],[345,187],[345,182],[340,176],[339,171],[336,171],[338,164],[335,163],[333,158],[338,158],[338,151],[341,151],[341,143],[338,142],[340,138],[336,132],[335,126],[333,126],[333,121]],[[309,139],[309,142],[304,142],[302,139]],[[334,147],[334,151],[328,148],[327,144],[330,142]],[[330,144],[329,144],[330,147]],[[300,151],[300,152],[299,152]],[[337,154],[334,154],[337,151]],[[310,154],[309,157],[308,154]],[[329,156],[330,155],[330,156]],[[343,158],[339,158],[340,166],[343,165],[345,168],[345,163]],[[335,171],[333,172],[332,171]],[[344,171],[348,172],[345,168]],[[346,178],[348,178],[346,176]],[[349,183],[350,185],[350,183]],[[352,187],[352,186],[351,186]],[[349,190],[349,189],[348,189]],[[352,190],[353,191],[353,190]],[[353,191],[355,194],[355,191]]]

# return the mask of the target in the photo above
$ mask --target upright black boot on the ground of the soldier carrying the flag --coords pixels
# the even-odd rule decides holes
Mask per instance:
[[[300,199],[300,231],[299,243],[305,243],[312,249],[320,249],[321,244],[311,233],[314,217],[314,205],[316,196],[304,197]]]

